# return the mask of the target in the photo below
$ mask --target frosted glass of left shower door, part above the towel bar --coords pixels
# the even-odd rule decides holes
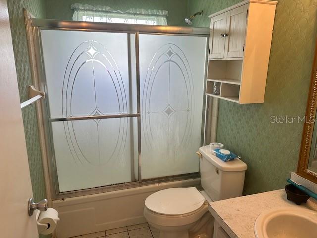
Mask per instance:
[[[51,118],[135,113],[135,39],[41,30]]]

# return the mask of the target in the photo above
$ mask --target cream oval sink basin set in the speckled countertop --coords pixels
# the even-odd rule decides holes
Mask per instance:
[[[256,238],[317,238],[317,212],[284,207],[261,213],[254,224]]]

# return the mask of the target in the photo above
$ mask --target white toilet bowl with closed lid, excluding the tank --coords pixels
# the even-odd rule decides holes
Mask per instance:
[[[145,201],[143,215],[160,230],[159,238],[212,238],[213,217],[195,187],[153,193]]]

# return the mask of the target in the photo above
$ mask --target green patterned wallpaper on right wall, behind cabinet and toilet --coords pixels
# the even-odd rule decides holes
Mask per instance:
[[[188,9],[207,16],[240,0],[189,0]],[[270,123],[271,115],[305,114],[316,39],[317,0],[278,0],[265,102],[239,105],[220,100],[217,141],[248,164],[244,194],[282,188],[296,170],[303,123]]]

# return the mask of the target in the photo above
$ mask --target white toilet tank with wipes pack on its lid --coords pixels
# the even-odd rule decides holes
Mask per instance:
[[[202,154],[200,174],[202,187],[213,201],[242,195],[247,165],[240,159],[224,162],[211,153],[210,146],[199,148]]]

